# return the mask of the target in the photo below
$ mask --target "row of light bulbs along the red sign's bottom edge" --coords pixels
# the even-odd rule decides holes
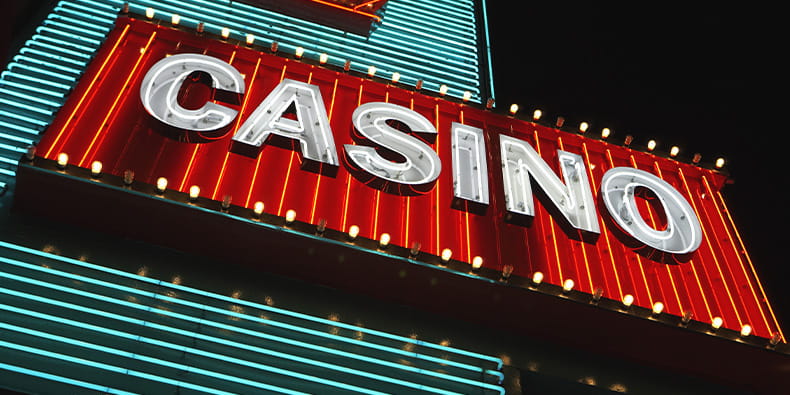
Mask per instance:
[[[34,151],[33,151],[33,153],[34,153]],[[58,157],[57,157],[57,160],[56,160],[57,167],[59,169],[61,169],[61,170],[65,170],[66,167],[68,166],[68,160],[69,160],[68,154],[66,154],[66,153],[58,154]],[[102,174],[102,162],[100,162],[98,160],[97,161],[93,161],[91,163],[90,172],[91,172],[91,176],[94,177],[94,178],[101,177],[101,174]],[[131,173],[131,171],[127,170],[124,173],[124,177],[123,178],[124,178],[124,183],[127,184],[127,185],[130,185],[132,183],[132,181],[133,181],[134,174]],[[156,180],[156,192],[157,192],[157,194],[163,195],[165,193],[165,191],[167,190],[167,185],[168,185],[167,178],[159,177]],[[190,202],[197,201],[199,195],[200,195],[200,187],[199,186],[193,185],[193,186],[191,186],[189,188],[188,196],[189,196],[189,201]],[[225,196],[223,198],[223,201],[222,201],[222,208],[224,210],[227,210],[229,207],[230,207],[230,197],[229,196]],[[255,202],[253,204],[253,213],[254,213],[254,216],[255,216],[256,219],[260,219],[261,215],[263,214],[263,211],[264,211],[264,203],[263,202],[258,201],[258,202]],[[286,211],[286,213],[285,213],[285,224],[286,224],[286,226],[293,224],[294,221],[296,221],[296,211],[292,210],[292,209]],[[319,224],[318,224],[319,232],[323,233],[325,228],[326,228],[326,221],[325,220],[319,221]],[[347,231],[348,241],[353,243],[357,239],[357,237],[359,236],[359,232],[360,232],[359,226],[351,225],[348,228],[348,231]],[[381,249],[381,250],[386,249],[389,246],[391,240],[392,240],[392,238],[391,238],[389,233],[382,233],[379,236],[379,240],[378,240],[379,249]],[[419,243],[415,243],[415,245],[410,250],[410,257],[415,257],[418,253],[419,253]],[[440,256],[439,256],[439,258],[441,259],[441,264],[442,265],[446,265],[447,263],[449,263],[450,259],[452,258],[452,256],[453,256],[453,251],[451,249],[449,249],[449,248],[443,249],[441,254],[440,254]],[[472,272],[477,272],[482,266],[483,266],[483,258],[482,257],[475,256],[474,258],[472,258],[472,262],[471,262]],[[503,267],[503,269],[502,269],[502,278],[505,279],[505,280],[508,279],[510,277],[510,275],[512,274],[512,272],[513,272],[513,266],[512,265],[505,265]],[[536,288],[541,283],[543,283],[543,280],[544,280],[544,275],[543,275],[542,272],[540,272],[540,271],[534,272],[533,275],[532,275],[532,287]],[[569,292],[571,292],[573,290],[574,286],[575,286],[575,282],[573,281],[573,279],[568,278],[565,281],[563,281],[563,283],[562,283],[562,292],[564,294],[567,294],[567,293],[569,293]],[[593,301],[597,303],[598,301],[600,301],[602,295],[603,295],[603,289],[602,288],[596,288],[593,291],[593,294],[592,294]],[[623,296],[623,299],[622,299],[621,302],[622,302],[623,307],[628,309],[634,303],[634,296],[631,295],[631,294],[626,294],[626,295]],[[653,303],[652,315],[654,317],[659,316],[663,311],[664,311],[664,303],[662,303],[660,301]],[[687,312],[685,312],[683,314],[682,322],[683,322],[684,325],[686,325],[686,324],[689,323],[689,321],[691,321],[691,312],[687,311]],[[711,329],[713,331],[716,331],[719,328],[721,328],[723,323],[724,323],[724,320],[721,317],[718,317],[718,316],[717,317],[713,317],[713,319],[711,320],[711,324],[710,324]],[[741,330],[740,330],[741,338],[746,338],[749,335],[751,335],[751,333],[752,333],[751,325],[744,324],[744,325],[741,326]],[[771,339],[769,341],[769,345],[771,347],[776,346],[779,343],[779,340],[780,340],[780,334],[777,332],[771,337]]]

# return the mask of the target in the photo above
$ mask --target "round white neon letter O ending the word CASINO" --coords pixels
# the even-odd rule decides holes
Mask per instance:
[[[667,227],[648,225],[636,206],[636,188],[647,188],[661,202]],[[689,202],[672,185],[646,171],[630,167],[609,169],[601,181],[606,209],[617,225],[636,240],[671,254],[694,252],[702,243],[702,227]]]

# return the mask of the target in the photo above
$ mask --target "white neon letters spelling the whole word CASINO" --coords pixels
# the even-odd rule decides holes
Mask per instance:
[[[177,92],[187,76],[196,72],[207,73],[215,90],[244,93],[241,73],[232,65],[206,55],[179,54],[160,60],[147,72],[140,90],[145,109],[173,128],[207,132],[227,127],[237,116],[231,108],[207,101],[197,110],[187,110],[178,104]],[[295,109],[295,119],[286,117],[289,108]],[[408,108],[382,102],[362,104],[354,110],[352,123],[357,133],[373,146],[345,145],[351,165],[382,180],[380,189],[387,192],[406,194],[426,186],[429,189],[439,177],[441,159],[430,145],[390,126],[392,122],[404,125],[412,134],[437,133],[431,121]],[[451,129],[455,197],[487,205],[482,132],[461,123],[453,123]],[[333,132],[318,86],[283,80],[244,121],[233,141],[260,148],[271,135],[298,141],[300,154],[308,161],[338,166]],[[470,137],[472,141],[468,142]],[[505,205],[511,219],[535,216],[531,187],[534,182],[548,198],[551,209],[559,213],[557,219],[578,231],[600,234],[581,155],[557,151],[562,170],[560,179],[528,142],[506,135],[500,135],[499,139]],[[395,153],[400,160],[385,158],[378,152],[382,148]],[[658,197],[668,219],[665,229],[655,229],[642,218],[635,200],[637,188],[647,189]],[[615,167],[604,173],[600,191],[608,214],[622,231],[637,241],[669,254],[689,254],[699,248],[702,231],[694,210],[683,195],[660,178],[637,169]]]

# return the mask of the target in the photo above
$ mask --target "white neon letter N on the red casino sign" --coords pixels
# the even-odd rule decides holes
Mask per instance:
[[[593,201],[587,169],[582,157],[557,150],[562,177],[526,141],[500,135],[502,176],[505,184],[505,207],[508,212],[527,217],[535,216],[530,176],[567,222],[574,228],[600,234],[598,216]]]

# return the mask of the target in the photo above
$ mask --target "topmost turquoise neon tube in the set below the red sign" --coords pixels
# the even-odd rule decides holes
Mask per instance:
[[[177,284],[173,284],[173,283],[170,283],[170,282],[167,282],[167,281],[156,280],[156,279],[152,279],[152,278],[149,278],[149,277],[139,276],[139,275],[136,275],[136,274],[127,273],[127,272],[123,272],[123,271],[120,271],[120,270],[107,268],[107,267],[104,267],[104,266],[92,264],[92,263],[89,263],[89,262],[80,261],[80,260],[77,260],[77,259],[72,259],[72,258],[68,258],[68,257],[62,257],[62,256],[59,256],[59,255],[46,253],[46,252],[43,252],[43,251],[35,250],[35,249],[32,249],[32,248],[28,248],[28,247],[19,246],[19,245],[16,245],[16,244],[5,242],[5,241],[0,241],[0,247],[7,248],[7,249],[10,249],[10,250],[16,250],[16,251],[23,252],[23,253],[26,253],[26,254],[40,256],[42,258],[48,258],[48,259],[52,259],[52,260],[57,260],[57,261],[61,261],[61,262],[64,262],[64,263],[69,263],[69,264],[77,265],[77,266],[80,266],[80,267],[84,267],[84,268],[87,268],[87,269],[92,269],[92,270],[97,270],[97,271],[108,273],[108,274],[113,274],[113,275],[120,276],[120,277],[129,278],[129,279],[136,280],[136,281],[146,282],[146,283],[153,284],[153,285],[156,285],[156,286],[171,288],[173,290],[180,291],[180,292],[187,292],[187,293],[190,293],[190,294],[195,294],[195,295],[205,296],[205,297],[209,297],[209,298],[216,299],[216,300],[221,300],[223,302],[227,302],[227,303],[231,303],[231,304],[244,305],[244,306],[255,308],[255,309],[258,309],[258,310],[269,311],[269,312],[272,312],[272,313],[282,314],[282,315],[289,316],[289,317],[296,318],[296,319],[311,321],[311,322],[315,322],[315,323],[320,324],[320,325],[336,326],[336,327],[339,327],[339,328],[348,329],[348,330],[352,330],[352,331],[355,331],[355,332],[362,332],[362,333],[365,333],[365,334],[371,335],[371,336],[379,336],[379,337],[382,337],[382,338],[385,338],[385,339],[389,339],[389,340],[394,340],[394,341],[397,341],[397,342],[411,343],[411,344],[414,344],[414,345],[417,345],[417,346],[433,348],[433,349],[436,349],[436,350],[440,350],[443,353],[455,353],[455,354],[463,355],[463,356],[474,358],[474,359],[485,360],[485,361],[488,361],[488,362],[491,362],[491,363],[495,364],[497,370],[502,368],[502,360],[501,359],[496,358],[496,357],[491,357],[491,356],[488,356],[488,355],[484,355],[484,354],[474,353],[474,352],[470,352],[470,351],[467,351],[467,350],[462,350],[462,349],[458,349],[458,348],[454,348],[454,347],[441,346],[441,345],[434,344],[434,343],[429,343],[429,342],[423,342],[421,340],[416,340],[416,339],[412,339],[412,338],[405,337],[405,336],[394,335],[394,334],[390,334],[390,333],[387,333],[387,332],[377,331],[377,330],[374,330],[374,329],[362,328],[362,327],[358,327],[358,326],[354,326],[354,325],[345,324],[345,323],[342,323],[342,322],[331,321],[331,320],[328,320],[328,319],[324,319],[324,318],[320,318],[320,317],[314,317],[314,316],[311,316],[311,315],[302,314],[302,313],[298,313],[298,312],[293,312],[293,311],[290,311],[290,310],[280,309],[280,308],[268,306],[268,305],[265,305],[265,304],[250,302],[250,301],[246,301],[246,300],[243,300],[243,299],[235,299],[235,298],[231,298],[229,296],[220,295],[220,294],[213,293],[213,292],[208,292],[208,291],[203,291],[203,290],[199,290],[199,289],[195,289],[195,288],[190,288],[190,287],[186,287],[186,286],[183,286],[183,285],[177,285]],[[38,266],[36,266],[36,268],[38,268]],[[163,296],[159,295],[158,297],[162,298]],[[223,314],[229,314],[231,312],[223,310],[222,313]],[[263,321],[263,322],[265,322],[265,321]],[[335,340],[339,340],[339,339],[335,339]],[[446,361],[446,360],[442,360],[442,361],[443,361],[443,363],[449,362],[449,361]]]

